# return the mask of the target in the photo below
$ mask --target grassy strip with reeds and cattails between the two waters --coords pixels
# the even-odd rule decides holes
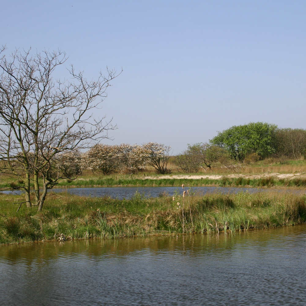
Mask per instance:
[[[59,239],[60,234],[77,239],[235,232],[306,221],[305,195],[275,192],[177,194],[174,200],[146,199],[139,193],[130,200],[51,194],[43,211],[22,206],[17,213],[21,201],[0,195],[1,244]]]

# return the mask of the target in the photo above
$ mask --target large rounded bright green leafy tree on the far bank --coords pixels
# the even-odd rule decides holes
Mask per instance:
[[[264,159],[275,153],[276,129],[274,124],[251,122],[218,132],[210,142],[228,151],[231,158],[237,161],[252,153]]]

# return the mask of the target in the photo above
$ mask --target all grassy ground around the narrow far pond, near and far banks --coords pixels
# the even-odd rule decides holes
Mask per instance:
[[[146,198],[136,192],[129,200],[118,200],[71,196],[49,190],[44,208],[39,211],[35,206],[20,205],[24,201],[22,195],[0,194],[0,244],[156,234],[233,234],[306,221],[304,160],[268,164],[258,161],[235,170],[215,167],[187,176],[175,169],[171,160],[168,165],[173,171],[164,175],[156,174],[149,167],[136,174],[101,175],[84,171],[76,180],[58,180],[56,186],[180,186],[174,198],[166,195]],[[255,194],[194,196],[190,188],[183,197],[182,184],[264,187],[267,190]],[[18,190],[22,186],[21,180],[1,176],[2,190]],[[34,192],[31,196],[35,197]]]

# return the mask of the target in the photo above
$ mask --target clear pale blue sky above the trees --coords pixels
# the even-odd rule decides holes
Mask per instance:
[[[306,129],[306,1],[5,1],[0,45],[62,50],[89,79],[120,76],[95,116],[106,144],[179,154],[249,122]]]

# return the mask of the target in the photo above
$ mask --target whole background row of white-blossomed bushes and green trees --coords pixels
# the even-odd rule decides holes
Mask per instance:
[[[171,172],[171,158],[178,171],[197,173],[215,166],[235,168],[237,163],[256,162],[270,157],[301,159],[306,154],[306,131],[278,129],[256,122],[233,126],[209,143],[188,144],[185,151],[170,156],[171,147],[154,142],[138,144],[95,144],[86,152],[59,152],[53,159],[50,177],[76,178],[84,170],[103,175],[135,174],[151,166],[159,174]]]

